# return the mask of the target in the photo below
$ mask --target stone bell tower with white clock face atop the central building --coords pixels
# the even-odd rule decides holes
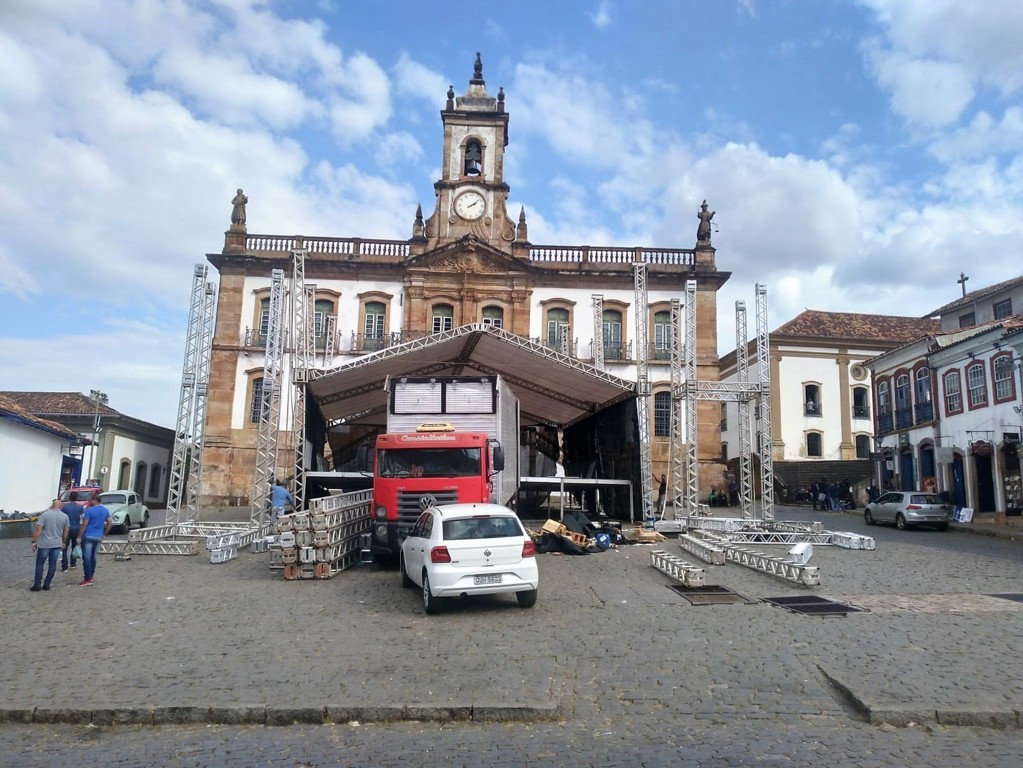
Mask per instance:
[[[426,250],[473,234],[511,253],[515,222],[508,219],[508,186],[504,183],[504,147],[508,143],[508,116],[504,89],[487,93],[483,61],[476,54],[473,78],[463,96],[449,87],[441,111],[444,156],[441,179],[434,184],[435,209],[426,227]]]

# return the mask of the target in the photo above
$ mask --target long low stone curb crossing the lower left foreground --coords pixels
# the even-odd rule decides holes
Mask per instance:
[[[0,709],[0,723],[19,725],[331,725],[362,723],[529,723],[565,717],[561,705],[540,707],[145,707],[76,710]]]

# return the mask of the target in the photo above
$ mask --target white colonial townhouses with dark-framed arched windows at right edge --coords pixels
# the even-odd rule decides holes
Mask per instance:
[[[940,331],[866,363],[882,483],[947,494],[977,513],[1020,513],[1021,306],[1023,278],[964,288],[930,313]]]

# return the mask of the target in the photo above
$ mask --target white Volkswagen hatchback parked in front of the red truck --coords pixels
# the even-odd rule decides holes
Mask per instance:
[[[422,590],[436,614],[451,597],[514,592],[536,604],[536,546],[519,516],[499,504],[444,504],[425,510],[401,545],[401,583]]]

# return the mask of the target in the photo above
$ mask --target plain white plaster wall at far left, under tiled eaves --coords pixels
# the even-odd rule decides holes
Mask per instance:
[[[0,418],[0,509],[41,512],[60,485],[68,443],[56,435]]]

